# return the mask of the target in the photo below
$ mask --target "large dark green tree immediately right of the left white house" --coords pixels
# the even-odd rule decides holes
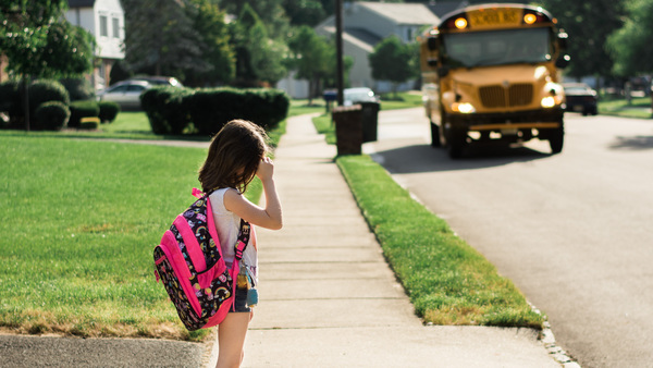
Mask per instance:
[[[133,71],[171,75],[205,73],[201,37],[188,0],[121,0],[125,9],[125,61]]]

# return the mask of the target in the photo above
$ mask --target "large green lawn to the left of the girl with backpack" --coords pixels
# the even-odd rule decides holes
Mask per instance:
[[[152,249],[192,201],[205,149],[1,137],[0,326],[198,339],[153,278]]]

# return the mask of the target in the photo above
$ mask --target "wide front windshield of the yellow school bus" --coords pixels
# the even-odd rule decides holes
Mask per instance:
[[[549,28],[468,32],[443,35],[443,63],[473,68],[540,63],[553,54]]]

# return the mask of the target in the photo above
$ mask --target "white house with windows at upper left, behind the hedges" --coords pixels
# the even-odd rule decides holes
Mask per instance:
[[[65,19],[95,36],[95,70],[90,83],[96,89],[109,85],[109,73],[125,58],[125,14],[120,0],[69,0]]]

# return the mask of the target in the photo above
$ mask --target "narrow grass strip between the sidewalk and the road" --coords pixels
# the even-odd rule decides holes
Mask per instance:
[[[338,157],[337,164],[426,322],[542,328],[543,316],[517,287],[382,167],[368,156]]]

